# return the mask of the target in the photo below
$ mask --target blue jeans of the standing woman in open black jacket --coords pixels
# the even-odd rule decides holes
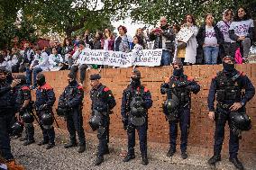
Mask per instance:
[[[204,58],[206,65],[217,64],[219,47],[204,47]]]

